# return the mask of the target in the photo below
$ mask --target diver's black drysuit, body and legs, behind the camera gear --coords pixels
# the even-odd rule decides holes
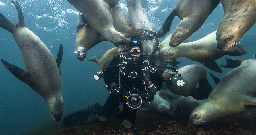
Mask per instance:
[[[124,72],[125,74],[123,74],[121,72],[121,92],[122,91],[131,91],[138,89],[140,92],[144,92],[144,96],[142,96],[142,99],[145,99],[146,94],[147,94],[147,90],[145,87],[145,84],[143,84],[143,71],[142,68],[145,68],[148,64],[148,62],[145,62],[146,58],[141,56],[140,59],[138,59],[138,61],[135,63],[131,60],[128,60],[127,58],[130,58],[131,56],[127,56],[127,55],[122,55],[120,57],[120,55],[118,55],[117,57],[115,57],[111,63],[110,63],[110,67],[106,68],[105,70],[105,75],[104,75],[104,81],[106,83],[106,85],[109,87],[110,84],[112,84],[113,82],[116,83],[117,85],[119,85],[119,67],[118,66],[113,66],[113,65],[118,65],[118,64],[122,64],[124,69],[121,69],[122,72]],[[154,65],[153,62],[150,61],[151,65]],[[125,66],[124,66],[125,65]],[[131,77],[131,73],[136,74],[136,77]],[[150,81],[152,81],[152,83],[154,84],[154,86],[157,88],[157,90],[160,90],[162,88],[162,80],[158,74],[158,71],[154,72],[154,73],[149,73],[150,76]],[[111,89],[111,88],[110,88]],[[144,97],[144,98],[143,98]],[[97,107],[96,108],[96,112],[97,115],[102,115],[106,118],[110,118],[114,115],[115,110],[117,109],[118,105],[120,104],[120,99],[122,102],[122,95],[121,97],[116,97],[114,96],[112,93],[110,93],[110,95],[108,96],[108,99],[106,101],[106,103],[104,104],[103,107]],[[135,117],[136,117],[136,110],[137,109],[132,109],[130,108],[126,101],[124,101],[124,105],[123,105],[123,111],[119,115],[118,119],[123,122],[123,120],[127,120],[129,121],[131,124],[133,124],[135,122]]]

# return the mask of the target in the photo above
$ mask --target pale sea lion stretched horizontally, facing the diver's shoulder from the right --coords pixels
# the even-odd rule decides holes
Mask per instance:
[[[207,36],[189,43],[181,43],[179,46],[170,47],[168,41],[172,34],[167,36],[161,43],[159,48],[160,55],[166,60],[170,61],[179,57],[186,57],[192,61],[198,61],[205,65],[205,67],[215,72],[222,73],[222,70],[215,62],[215,60],[224,55],[241,56],[247,53],[241,45],[236,45],[229,50],[219,51],[217,41],[215,39],[216,31]]]

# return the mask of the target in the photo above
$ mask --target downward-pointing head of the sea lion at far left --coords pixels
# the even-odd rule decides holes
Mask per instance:
[[[59,122],[61,120],[61,115],[63,113],[63,99],[61,97],[52,97],[47,100],[48,106],[51,111],[51,116],[52,118],[56,121]]]

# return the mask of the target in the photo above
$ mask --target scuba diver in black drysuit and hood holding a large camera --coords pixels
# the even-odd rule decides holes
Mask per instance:
[[[87,118],[94,114],[100,121],[106,121],[114,116],[125,128],[131,128],[135,122],[137,108],[141,105],[146,106],[148,101],[154,100],[154,95],[162,88],[162,79],[153,66],[154,63],[142,55],[143,48],[139,39],[131,40],[128,49],[128,55],[121,55],[121,52],[118,52],[109,66],[104,68],[103,79],[110,90],[105,104],[100,106],[99,103],[95,103],[87,110],[65,117],[65,125],[73,126],[75,121],[81,123],[81,117]],[[123,105],[122,111],[120,104]],[[75,115],[80,115],[80,118]]]

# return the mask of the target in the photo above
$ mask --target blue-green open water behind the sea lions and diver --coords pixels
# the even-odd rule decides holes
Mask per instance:
[[[153,24],[157,32],[175,7],[178,0],[141,0],[148,20]],[[104,104],[109,92],[104,87],[104,81],[95,81],[92,76],[100,68],[92,61],[79,61],[75,55],[76,25],[79,11],[65,0],[19,0],[23,10],[26,26],[34,32],[50,49],[56,58],[59,44],[63,44],[63,58],[61,62],[62,95],[64,100],[64,113],[75,111],[87,107],[95,102]],[[128,18],[127,5],[123,3],[123,12]],[[0,12],[13,24],[18,22],[16,8],[9,0],[0,0]],[[203,26],[197,30],[190,41],[203,38],[210,32],[217,30],[223,16],[221,3],[210,14]],[[175,17],[170,32],[171,34],[177,24],[180,22]],[[256,53],[256,26],[254,25],[243,37],[243,47],[248,53],[231,59],[251,59]],[[166,36],[160,38],[162,41]],[[104,41],[99,43],[88,51],[86,58],[93,56],[102,57],[108,50],[115,47],[113,43]],[[26,67],[22,58],[20,48],[18,47],[13,35],[0,28],[0,58],[16,65],[24,70]],[[178,58],[181,62],[179,67],[189,64],[198,64],[186,58]],[[216,60],[218,65],[225,65],[225,58]],[[206,67],[205,67],[206,68]],[[206,68],[215,76],[222,78],[231,69],[222,68],[223,73],[217,73]],[[215,87],[215,84],[207,75],[208,81]],[[32,88],[15,78],[0,63],[0,134],[23,134],[30,129],[38,126],[40,123],[51,118],[46,101],[37,94]]]

